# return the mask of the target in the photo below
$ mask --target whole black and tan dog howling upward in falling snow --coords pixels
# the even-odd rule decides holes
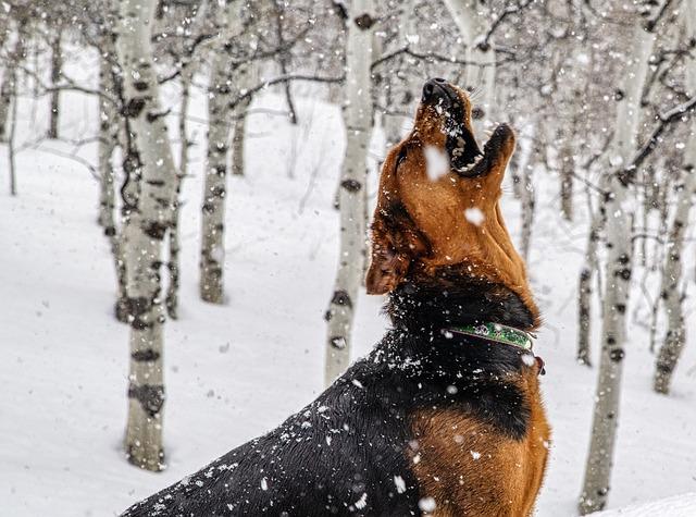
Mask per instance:
[[[126,516],[532,514],[549,427],[526,333],[538,310],[498,206],[514,137],[500,125],[482,152],[470,116],[462,90],[428,81],[384,163],[368,274],[389,295],[382,342],[277,429]]]

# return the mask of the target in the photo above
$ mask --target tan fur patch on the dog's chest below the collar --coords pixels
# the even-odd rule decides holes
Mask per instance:
[[[453,408],[413,416],[418,440],[407,451],[421,497],[433,497],[432,517],[527,517],[542,485],[550,429],[540,404],[536,369],[510,380],[532,414],[526,436],[512,440]]]

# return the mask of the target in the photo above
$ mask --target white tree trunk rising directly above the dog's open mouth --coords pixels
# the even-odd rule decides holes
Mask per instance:
[[[493,41],[483,41],[490,15],[478,0],[445,0],[445,5],[467,46],[467,61],[473,63],[464,66],[464,81],[465,87],[475,91],[472,119],[474,133],[481,138],[483,130],[492,125],[496,98],[496,54]]]

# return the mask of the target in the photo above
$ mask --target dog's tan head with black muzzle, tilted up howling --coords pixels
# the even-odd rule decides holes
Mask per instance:
[[[468,95],[445,79],[427,81],[413,131],[382,169],[368,292],[389,293],[410,276],[437,278],[458,267],[510,288],[536,317],[499,207],[513,149],[514,134],[501,124],[481,150]]]

